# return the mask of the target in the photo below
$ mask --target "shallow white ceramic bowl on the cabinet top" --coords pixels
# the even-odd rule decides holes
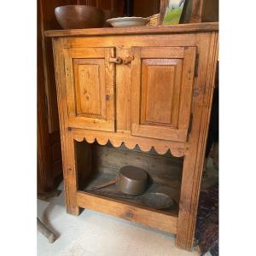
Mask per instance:
[[[143,17],[119,17],[109,19],[107,22],[114,27],[145,26],[149,22],[149,19]]]

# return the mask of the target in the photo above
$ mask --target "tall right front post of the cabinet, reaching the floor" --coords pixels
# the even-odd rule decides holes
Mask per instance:
[[[188,151],[185,152],[179,213],[177,240],[179,247],[190,250],[194,242],[195,220],[201,187],[207,131],[212,106],[212,92],[215,67],[218,56],[218,35],[199,34],[199,73],[195,79],[195,89],[200,91],[193,98],[193,123],[189,135]]]

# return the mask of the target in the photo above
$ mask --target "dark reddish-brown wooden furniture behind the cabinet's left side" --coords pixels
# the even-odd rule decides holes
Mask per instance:
[[[72,1],[38,0],[38,194],[49,193],[62,178],[52,44],[44,31],[60,29],[55,7],[67,3]]]

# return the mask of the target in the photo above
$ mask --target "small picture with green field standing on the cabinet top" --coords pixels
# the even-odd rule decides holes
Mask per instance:
[[[165,1],[165,6],[162,6],[162,25],[178,24],[183,14],[183,7],[186,1],[188,0]]]

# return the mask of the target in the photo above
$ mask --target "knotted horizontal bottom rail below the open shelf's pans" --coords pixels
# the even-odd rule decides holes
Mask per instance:
[[[82,191],[78,191],[76,195],[79,207],[125,218],[153,229],[174,234],[177,232],[177,216],[173,213],[149,210],[146,207],[137,206],[130,202],[107,199],[101,195],[92,195]]]

